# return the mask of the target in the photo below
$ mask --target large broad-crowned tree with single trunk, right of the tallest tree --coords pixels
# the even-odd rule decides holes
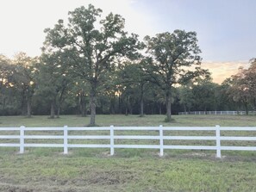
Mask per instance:
[[[145,37],[147,53],[152,56],[149,72],[153,82],[165,91],[166,121],[172,120],[172,86],[181,84],[199,75],[202,71],[201,53],[197,46],[197,34],[175,30],[171,33],[156,34],[155,37]],[[191,66],[195,66],[191,70]]]

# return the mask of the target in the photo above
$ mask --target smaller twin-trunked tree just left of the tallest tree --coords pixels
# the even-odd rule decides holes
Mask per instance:
[[[38,65],[36,75],[36,93],[50,102],[50,118],[55,117],[55,107],[59,117],[61,103],[64,102],[68,86],[72,81],[67,62],[65,54],[61,52],[41,55],[41,63]]]

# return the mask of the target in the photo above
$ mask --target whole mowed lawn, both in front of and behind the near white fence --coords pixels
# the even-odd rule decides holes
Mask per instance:
[[[97,115],[98,126],[256,127],[255,116]],[[89,117],[0,117],[0,127],[81,127]],[[255,144],[255,142],[253,143]],[[253,145],[252,144],[252,145]],[[256,144],[255,144],[256,146]],[[0,148],[0,191],[256,191],[256,152]],[[168,152],[167,152],[168,151]]]

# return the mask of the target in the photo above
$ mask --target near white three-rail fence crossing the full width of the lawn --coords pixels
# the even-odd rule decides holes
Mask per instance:
[[[31,132],[46,132],[47,135],[31,135]],[[69,134],[72,131],[107,131],[108,135],[73,135]],[[157,135],[121,135],[115,134],[116,131],[154,131]],[[168,131],[211,131],[214,132],[213,136],[170,136],[164,133]],[[255,132],[256,127],[0,127],[0,147],[19,147],[20,153],[24,152],[25,147],[61,147],[64,150],[64,154],[68,153],[69,148],[84,147],[84,148],[109,148],[110,155],[114,155],[116,148],[143,148],[143,149],[159,149],[159,156],[164,155],[165,149],[186,149],[186,150],[215,150],[216,157],[221,158],[222,150],[230,151],[256,151],[255,146],[222,146],[221,141],[233,140],[233,141],[256,141],[256,137],[247,136],[222,136],[222,131],[249,131]],[[9,132],[16,132],[18,134],[10,134]],[[30,134],[26,134],[30,132]],[[59,135],[49,135],[51,132],[61,133]],[[190,133],[191,133],[190,132]],[[4,133],[4,134],[2,134]],[[8,134],[9,133],[9,134]],[[172,132],[171,132],[172,133]],[[2,141],[17,140],[16,143],[1,143]],[[27,143],[26,139],[49,139],[56,140],[61,139],[63,142],[56,143]],[[69,143],[69,139],[109,139],[109,144],[73,144]],[[116,139],[148,139],[158,140],[158,145],[119,145],[115,144]],[[215,141],[215,146],[173,146],[165,145],[166,140],[212,140]],[[255,144],[255,143],[253,143]]]

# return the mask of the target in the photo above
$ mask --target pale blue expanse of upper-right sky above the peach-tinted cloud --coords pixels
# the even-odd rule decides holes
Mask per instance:
[[[206,61],[256,57],[255,0],[137,0],[134,9],[154,15],[159,32],[196,31]]]

